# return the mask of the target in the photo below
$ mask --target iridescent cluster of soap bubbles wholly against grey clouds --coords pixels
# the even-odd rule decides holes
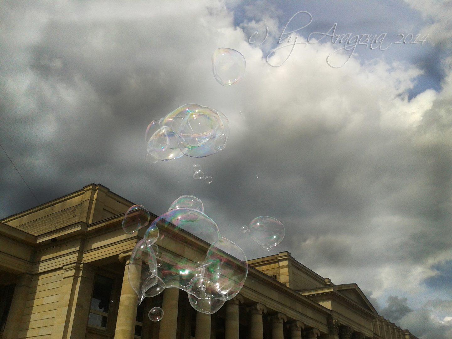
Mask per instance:
[[[229,121],[220,111],[186,104],[149,124],[145,136],[147,162],[215,154],[225,148],[229,130]]]

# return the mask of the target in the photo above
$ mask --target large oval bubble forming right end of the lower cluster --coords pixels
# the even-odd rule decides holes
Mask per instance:
[[[221,238],[207,252],[204,277],[215,286],[213,298],[229,300],[243,287],[248,275],[245,253],[231,240]]]

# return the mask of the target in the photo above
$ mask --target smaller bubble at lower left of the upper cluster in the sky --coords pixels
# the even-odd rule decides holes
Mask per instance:
[[[147,154],[159,161],[177,159],[184,155],[179,149],[176,133],[167,126],[160,127],[149,139]]]

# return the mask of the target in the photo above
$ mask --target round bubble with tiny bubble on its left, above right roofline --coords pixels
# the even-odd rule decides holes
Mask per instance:
[[[249,226],[242,226],[240,231],[250,233],[251,239],[267,251],[278,245],[285,234],[281,221],[267,216],[254,218]]]

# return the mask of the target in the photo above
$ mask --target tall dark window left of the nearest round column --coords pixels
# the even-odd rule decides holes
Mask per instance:
[[[94,279],[93,297],[88,324],[107,328],[108,310],[110,309],[113,279],[97,274]]]

